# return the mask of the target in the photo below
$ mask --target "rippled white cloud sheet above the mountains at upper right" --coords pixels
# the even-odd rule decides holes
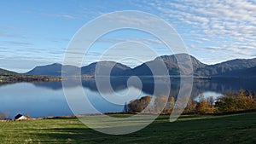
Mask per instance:
[[[147,4],[147,3],[144,3]],[[193,48],[255,55],[256,3],[249,0],[151,1],[160,16],[190,39]],[[184,25],[189,29],[184,29]],[[189,36],[190,34],[190,36]],[[207,47],[206,47],[207,43]],[[253,51],[254,50],[254,51]],[[253,53],[253,54],[252,54]]]

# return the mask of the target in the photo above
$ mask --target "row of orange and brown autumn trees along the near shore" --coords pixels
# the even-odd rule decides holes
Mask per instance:
[[[174,97],[155,97],[153,104],[150,103],[151,99],[151,96],[146,95],[140,99],[132,100],[128,104],[125,104],[124,112],[156,113],[160,112],[160,109],[163,109],[161,114],[171,114],[173,108],[178,107]],[[166,103],[164,108],[162,108],[163,103]],[[199,101],[190,98],[187,106],[183,108],[183,114],[220,114],[256,111],[256,95],[244,89],[227,93],[218,97],[216,100],[214,100],[212,96],[206,98],[204,95],[200,95]]]

